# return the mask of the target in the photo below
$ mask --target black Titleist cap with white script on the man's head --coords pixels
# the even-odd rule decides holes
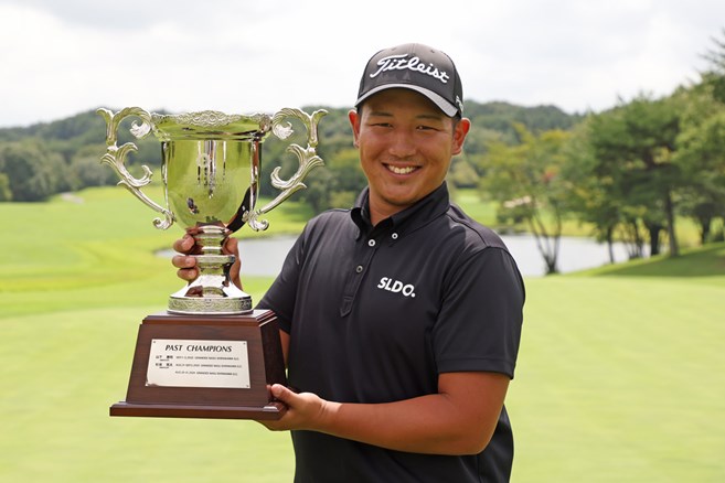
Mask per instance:
[[[355,107],[381,90],[402,87],[423,94],[446,116],[463,114],[463,87],[454,61],[423,44],[404,44],[373,55],[360,80]]]

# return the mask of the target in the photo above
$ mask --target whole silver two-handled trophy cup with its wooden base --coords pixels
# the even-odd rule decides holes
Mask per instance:
[[[268,222],[260,217],[306,187],[307,174],[323,163],[316,151],[317,125],[327,112],[160,115],[139,107],[97,112],[107,126],[102,162],[116,171],[118,184],[160,214],[153,219],[157,228],[175,222],[200,248],[194,255],[199,277],[169,297],[166,312],[147,315],[139,326],[126,400],[113,405],[110,415],[280,418],[286,408],[269,390],[271,384],[287,380],[276,315],[253,310],[252,298],[232,283],[234,256],[222,247],[245,224],[266,229]],[[130,132],[137,139],[153,132],[161,141],[166,207],[141,191],[151,182],[151,170],[143,165],[143,175],[137,179],[126,168],[127,155],[137,151],[132,142],[117,146],[126,118],[135,119]],[[257,208],[263,142],[270,132],[287,139],[292,133],[290,119],[307,130],[307,147],[287,148],[299,168],[288,180],[275,168],[271,185],[280,193]]]

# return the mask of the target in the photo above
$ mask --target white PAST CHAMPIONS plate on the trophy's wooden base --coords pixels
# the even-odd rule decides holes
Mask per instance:
[[[152,339],[146,385],[248,389],[247,342]]]

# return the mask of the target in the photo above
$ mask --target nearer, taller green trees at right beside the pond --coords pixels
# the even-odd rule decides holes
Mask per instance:
[[[615,239],[630,258],[663,245],[676,257],[682,217],[699,226],[702,244],[725,238],[725,42],[715,45],[701,79],[671,95],[620,99],[569,130],[515,124],[516,142],[487,146],[477,164],[482,193],[499,201],[502,222],[536,237],[550,273],[567,217],[593,226],[612,261]]]

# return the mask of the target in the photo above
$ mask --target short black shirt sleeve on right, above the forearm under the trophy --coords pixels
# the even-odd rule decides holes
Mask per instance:
[[[488,247],[457,265],[446,283],[433,341],[438,373],[495,372],[513,378],[524,285],[511,255]]]

